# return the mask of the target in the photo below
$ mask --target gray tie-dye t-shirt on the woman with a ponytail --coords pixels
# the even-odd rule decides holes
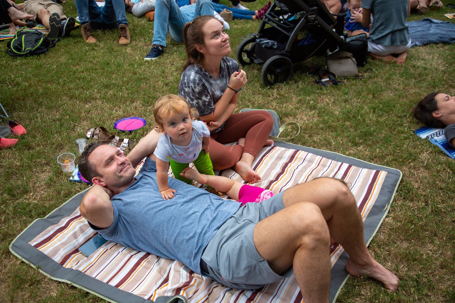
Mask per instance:
[[[200,116],[205,116],[215,111],[215,103],[224,94],[231,75],[237,71],[239,71],[237,61],[228,57],[221,60],[221,72],[218,77],[207,73],[201,65],[190,65],[183,71],[178,94],[187,99]]]

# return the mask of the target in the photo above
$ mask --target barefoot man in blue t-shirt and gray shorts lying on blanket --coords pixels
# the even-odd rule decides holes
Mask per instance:
[[[152,131],[128,156],[97,141],[79,159],[93,187],[81,214],[109,241],[178,260],[231,288],[255,289],[292,270],[305,302],[329,302],[330,236],[349,253],[346,270],[395,292],[399,279],[364,242],[354,196],[339,180],[319,178],[245,206],[169,178],[175,198],[162,199]],[[137,165],[147,156],[141,172]]]

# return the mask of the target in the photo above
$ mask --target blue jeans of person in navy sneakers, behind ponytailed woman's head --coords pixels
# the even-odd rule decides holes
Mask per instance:
[[[182,42],[183,25],[202,15],[213,15],[212,0],[197,0],[196,4],[182,7],[178,7],[175,0],[157,0],[152,44],[166,47],[168,25],[172,39]]]

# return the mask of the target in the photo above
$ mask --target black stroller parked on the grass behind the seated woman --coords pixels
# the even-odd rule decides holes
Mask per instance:
[[[344,15],[335,18],[319,0],[275,0],[258,33],[238,46],[237,59],[241,65],[263,64],[262,80],[268,86],[286,82],[293,63],[345,50],[343,26]]]

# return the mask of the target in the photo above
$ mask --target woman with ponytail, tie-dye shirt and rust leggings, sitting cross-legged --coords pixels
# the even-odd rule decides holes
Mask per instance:
[[[199,119],[207,122],[213,169],[232,167],[243,180],[258,182],[261,177],[252,167],[253,160],[264,145],[273,144],[268,140],[272,115],[263,110],[233,114],[247,75],[239,70],[237,61],[227,57],[231,53],[229,36],[214,16],[188,22],[183,27],[183,41],[187,62],[178,91],[197,109]],[[235,141],[239,144],[223,145]]]

